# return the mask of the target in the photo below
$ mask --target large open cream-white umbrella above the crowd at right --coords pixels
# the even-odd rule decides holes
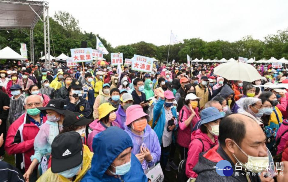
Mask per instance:
[[[261,75],[250,64],[244,62],[226,62],[214,68],[214,74],[220,75],[227,80],[242,80],[253,82],[261,79]]]

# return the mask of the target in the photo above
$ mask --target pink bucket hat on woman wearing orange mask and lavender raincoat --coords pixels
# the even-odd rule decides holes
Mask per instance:
[[[173,95],[173,93],[172,93]],[[148,116],[148,114],[144,113],[143,108],[141,105],[131,105],[126,110],[126,123],[125,125],[128,126],[130,123],[132,123],[135,120],[138,120],[139,118],[143,116]]]

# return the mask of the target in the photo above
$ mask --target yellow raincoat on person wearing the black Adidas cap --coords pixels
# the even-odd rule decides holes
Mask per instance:
[[[86,174],[86,172],[91,168],[91,160],[93,157],[93,152],[90,152],[87,145],[83,145],[83,168],[81,172],[77,175],[74,182],[78,182]],[[49,168],[42,176],[40,176],[37,182],[70,182],[71,180],[67,179],[64,176],[61,176],[57,173],[53,173],[51,168]]]

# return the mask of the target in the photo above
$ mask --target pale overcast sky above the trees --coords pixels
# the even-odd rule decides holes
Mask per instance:
[[[48,0],[49,14],[68,11],[82,31],[105,38],[113,47],[145,41],[169,44],[179,39],[263,40],[288,27],[287,0]]]

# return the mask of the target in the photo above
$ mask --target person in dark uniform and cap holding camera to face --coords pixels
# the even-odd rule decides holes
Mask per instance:
[[[67,109],[72,112],[79,112],[84,117],[89,117],[91,108],[89,102],[83,99],[82,85],[78,81],[73,81],[68,87],[68,96],[65,99]]]

